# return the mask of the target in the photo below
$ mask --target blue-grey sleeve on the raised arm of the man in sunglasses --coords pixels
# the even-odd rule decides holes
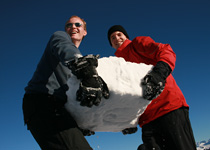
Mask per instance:
[[[50,39],[52,53],[66,65],[74,58],[81,57],[79,49],[74,45],[71,37],[64,31],[55,32]]]

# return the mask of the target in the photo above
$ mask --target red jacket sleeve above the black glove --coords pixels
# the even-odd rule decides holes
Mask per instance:
[[[156,43],[152,38],[145,36],[136,37],[132,43],[138,54],[155,62],[153,65],[163,61],[174,70],[176,54],[169,44]]]

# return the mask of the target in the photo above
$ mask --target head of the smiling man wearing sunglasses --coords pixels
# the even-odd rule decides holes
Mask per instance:
[[[78,17],[71,18],[66,25],[65,30],[70,35],[73,43],[75,43],[75,41],[82,41],[83,37],[87,35],[84,24]]]

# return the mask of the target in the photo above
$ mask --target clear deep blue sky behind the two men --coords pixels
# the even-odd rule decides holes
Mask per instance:
[[[130,39],[150,36],[168,43],[177,55],[173,76],[190,105],[196,141],[210,138],[210,0],[2,0],[0,2],[0,149],[37,150],[23,125],[22,97],[51,34],[64,29],[71,15],[87,22],[85,54],[114,55],[107,40],[110,26],[121,24]],[[96,133],[87,137],[95,150],[136,149],[133,135]]]

